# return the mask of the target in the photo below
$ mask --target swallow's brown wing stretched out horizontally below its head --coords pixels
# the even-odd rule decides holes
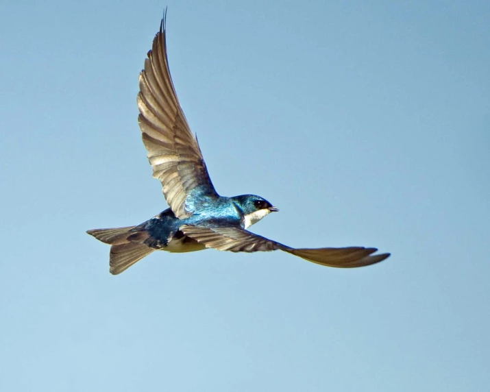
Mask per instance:
[[[354,268],[375,264],[390,256],[389,253],[372,255],[378,249],[369,247],[323,247],[294,249],[258,236],[242,228],[202,228],[183,225],[180,230],[206,247],[231,252],[259,252],[280,249],[305,260],[328,267]],[[371,256],[372,255],[372,256]]]

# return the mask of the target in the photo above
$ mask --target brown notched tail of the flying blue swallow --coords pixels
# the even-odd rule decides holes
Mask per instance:
[[[112,245],[110,247],[109,271],[117,275],[131,267],[135,262],[154,252],[155,249],[145,245],[145,232],[134,231],[136,226],[115,229],[87,230],[99,241]]]

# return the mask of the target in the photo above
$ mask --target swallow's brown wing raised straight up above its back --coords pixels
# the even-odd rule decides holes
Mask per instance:
[[[199,187],[201,195],[217,193],[173,88],[164,23],[162,19],[140,73],[138,123],[153,176],[162,182],[163,194],[175,216],[184,219],[193,214],[192,208],[186,208],[186,198],[194,188]]]

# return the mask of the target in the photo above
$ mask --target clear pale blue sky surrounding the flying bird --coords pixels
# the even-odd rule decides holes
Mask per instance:
[[[167,208],[138,73],[169,63],[252,231],[391,252],[155,252],[122,275],[91,228]],[[2,391],[483,391],[490,382],[488,1],[0,5]]]

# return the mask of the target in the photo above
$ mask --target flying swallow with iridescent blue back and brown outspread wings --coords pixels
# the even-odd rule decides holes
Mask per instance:
[[[153,176],[169,208],[140,225],[87,233],[111,245],[110,273],[117,275],[154,251],[230,252],[281,250],[328,267],[363,267],[385,260],[374,247],[293,248],[247,230],[279,209],[257,195],[221,196],[215,190],[197,136],[191,132],[170,74],[167,12],[139,75],[138,124]]]

